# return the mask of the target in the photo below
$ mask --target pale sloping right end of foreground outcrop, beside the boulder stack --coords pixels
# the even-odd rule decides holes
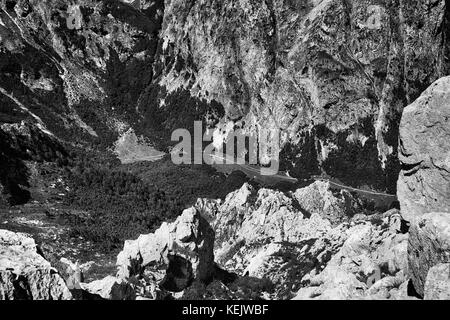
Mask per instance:
[[[362,222],[346,230],[347,240],[325,269],[302,280],[295,299],[406,299],[408,235]]]

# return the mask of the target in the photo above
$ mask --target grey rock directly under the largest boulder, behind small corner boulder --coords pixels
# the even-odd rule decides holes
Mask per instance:
[[[431,268],[450,261],[450,215],[429,213],[411,227],[408,244],[409,275],[414,288],[424,296]]]

